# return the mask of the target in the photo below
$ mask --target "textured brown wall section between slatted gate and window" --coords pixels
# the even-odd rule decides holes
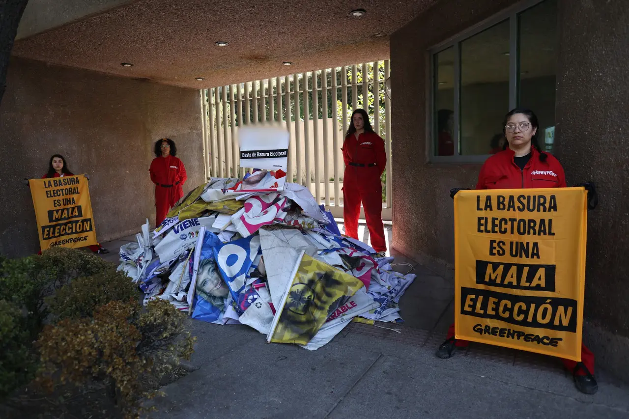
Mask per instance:
[[[426,50],[513,3],[442,1],[391,37],[394,247],[442,274],[451,274],[454,264],[450,188],[474,187],[480,166],[427,163],[430,56]]]

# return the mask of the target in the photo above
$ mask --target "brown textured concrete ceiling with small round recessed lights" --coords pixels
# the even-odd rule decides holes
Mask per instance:
[[[108,1],[117,7],[23,30],[13,55],[201,89],[387,59],[389,35],[437,1]],[[367,13],[354,18],[353,9]]]

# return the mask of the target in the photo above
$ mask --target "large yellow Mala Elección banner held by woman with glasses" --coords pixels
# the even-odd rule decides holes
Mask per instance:
[[[581,360],[582,187],[454,197],[455,338]]]

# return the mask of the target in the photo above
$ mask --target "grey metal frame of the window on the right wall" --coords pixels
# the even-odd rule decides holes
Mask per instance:
[[[492,26],[509,21],[509,109],[516,108],[519,102],[520,93],[520,14],[526,10],[537,6],[547,0],[523,0],[515,3],[503,11],[490,16],[489,18],[472,25],[466,30],[458,33],[455,36],[448,38],[447,40],[433,45],[428,48],[429,71],[428,71],[428,86],[430,91],[426,97],[428,98],[428,124],[426,138],[430,138],[430,146],[428,147],[428,162],[430,163],[454,163],[454,164],[482,164],[491,157],[491,154],[476,154],[476,155],[460,155],[461,140],[460,140],[460,82],[461,82],[461,43],[482,31],[485,31]],[[549,0],[552,1],[552,0]],[[435,147],[435,133],[437,132],[437,115],[435,113],[435,89],[438,84],[435,80],[437,75],[437,54],[447,50],[448,48],[454,48],[454,132],[456,133],[456,153],[455,155],[436,155]],[[506,109],[504,113],[507,113],[509,109]]]

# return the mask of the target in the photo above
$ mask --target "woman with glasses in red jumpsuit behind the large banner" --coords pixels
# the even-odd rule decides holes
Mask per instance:
[[[566,187],[564,168],[554,156],[542,152],[537,140],[537,116],[528,109],[513,109],[504,120],[504,135],[508,147],[494,154],[481,167],[476,189],[520,189],[537,187]],[[452,194],[454,197],[454,194]],[[469,342],[454,338],[454,324],[447,339],[437,349],[437,356],[450,358],[457,348]],[[572,371],[574,384],[582,393],[594,394],[598,384],[594,378],[594,354],[581,347],[581,362],[563,359]]]

